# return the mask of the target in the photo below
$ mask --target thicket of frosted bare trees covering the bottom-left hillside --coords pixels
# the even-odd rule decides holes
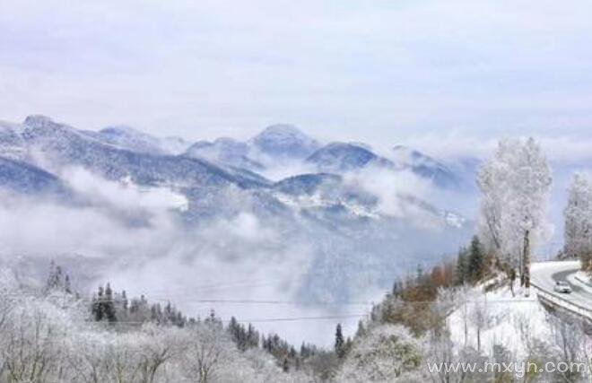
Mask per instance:
[[[240,351],[213,312],[204,321],[187,320],[179,326],[172,320],[178,321],[179,313],[170,304],[161,314],[171,320],[155,322],[142,297],[131,300],[127,311],[119,311],[126,310],[123,302],[116,304],[121,317],[107,325],[108,314],[99,302],[108,296],[117,302],[123,293],[101,287],[89,307],[76,294],[48,294],[37,286],[0,267],[0,382],[316,381],[310,363],[318,353],[314,346],[305,346],[307,362],[299,368],[293,363],[296,350],[279,336],[270,337],[274,351],[289,361],[283,372],[277,357],[257,346],[253,326],[238,327],[237,322],[248,346]],[[101,313],[102,323],[89,320],[90,309]],[[140,320],[133,320],[135,316]]]

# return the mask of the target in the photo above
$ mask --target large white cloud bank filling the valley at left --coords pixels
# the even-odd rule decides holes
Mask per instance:
[[[170,300],[191,316],[216,309],[222,318],[281,316],[258,306],[199,303],[200,300],[292,300],[313,257],[305,239],[287,241],[274,227],[246,208],[207,225],[187,225],[187,199],[166,187],[138,187],[100,178],[87,170],[61,171],[76,196],[74,205],[39,196],[2,191],[0,261],[29,259],[44,270],[51,259],[67,269],[85,269],[84,281],[73,274],[82,292],[110,282],[129,296]],[[229,190],[233,196],[237,192]],[[289,308],[294,316],[322,309]],[[259,326],[280,331],[281,326]],[[315,327],[316,328],[316,327]],[[318,333],[292,328],[292,340]],[[312,331],[312,330],[311,330]],[[317,331],[315,329],[314,331]]]

